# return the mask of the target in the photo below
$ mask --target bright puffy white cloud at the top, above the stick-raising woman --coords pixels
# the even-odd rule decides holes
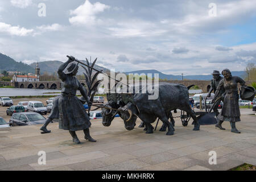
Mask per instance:
[[[75,10],[71,10],[73,17],[69,18],[71,24],[94,24],[97,22],[96,14],[109,9],[110,6],[104,5],[100,2],[94,4],[86,0],[85,3]]]

